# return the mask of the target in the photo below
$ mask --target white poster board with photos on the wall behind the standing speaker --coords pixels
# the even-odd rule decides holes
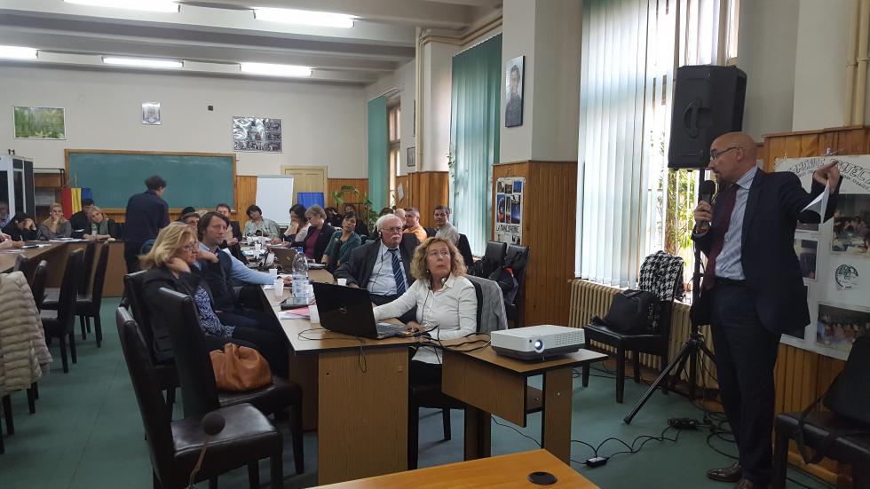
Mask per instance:
[[[859,336],[870,335],[870,155],[788,158],[777,171],[791,171],[805,189],[812,172],[840,162],[842,185],[834,218],[821,225],[797,224],[795,255],[801,264],[811,322],[782,342],[846,359]]]

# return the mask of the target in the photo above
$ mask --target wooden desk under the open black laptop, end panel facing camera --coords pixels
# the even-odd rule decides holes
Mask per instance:
[[[332,281],[322,270],[311,279]],[[279,314],[273,290],[263,292]],[[280,322],[292,349],[290,380],[303,390],[304,424],[317,429],[318,483],[407,470],[407,346],[416,340],[342,335],[308,319]]]

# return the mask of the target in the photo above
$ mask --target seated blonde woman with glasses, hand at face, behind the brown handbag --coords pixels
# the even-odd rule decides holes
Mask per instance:
[[[221,350],[225,343],[248,346],[263,354],[273,374],[287,377],[288,357],[285,340],[280,335],[252,327],[230,326],[220,322],[213,308],[208,284],[202,280],[199,268],[192,266],[199,257],[200,247],[196,232],[183,223],[164,227],[154,247],[139,256],[146,307],[152,312],[151,328],[154,332],[154,353],[159,361],[173,358],[169,327],[160,314],[162,302],[158,291],[165,287],[193,297],[209,351]],[[217,256],[208,255],[217,259]]]

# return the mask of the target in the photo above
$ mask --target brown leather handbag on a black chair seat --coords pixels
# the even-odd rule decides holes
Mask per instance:
[[[218,390],[252,390],[272,383],[272,371],[259,351],[226,343],[224,350],[210,351]]]

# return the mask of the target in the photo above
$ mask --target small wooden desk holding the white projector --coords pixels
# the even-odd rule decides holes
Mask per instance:
[[[477,351],[445,349],[441,390],[468,405],[465,460],[489,456],[492,414],[526,426],[528,378],[543,375],[541,443],[569,463],[572,370],[606,358],[603,353],[581,350],[556,359],[523,361],[498,355],[491,346]]]

